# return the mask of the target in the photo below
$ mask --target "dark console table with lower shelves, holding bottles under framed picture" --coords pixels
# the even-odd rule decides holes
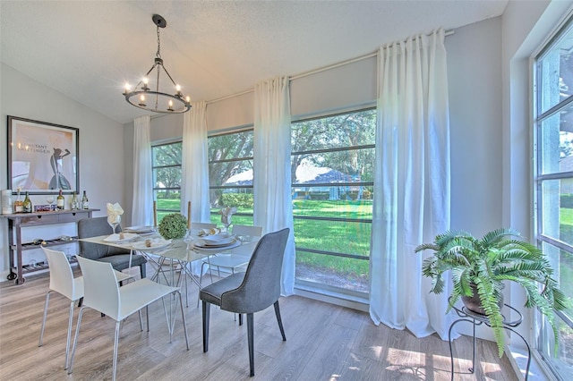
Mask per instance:
[[[31,242],[21,241],[21,229],[30,226],[39,226],[44,224],[66,224],[77,223],[83,218],[91,218],[91,213],[99,209],[74,209],[74,210],[56,210],[52,212],[36,213],[18,213],[13,215],[0,215],[8,219],[8,246],[10,250],[10,274],[7,276],[9,281],[15,280],[15,284],[26,282],[24,278],[24,269],[22,267],[22,250],[38,249],[40,247],[56,246],[77,241],[78,237],[72,237],[71,241],[60,241],[57,239],[46,240],[45,244],[34,244]],[[14,264],[14,255],[16,256],[17,265]],[[13,270],[16,270],[16,273]],[[41,268],[40,268],[41,269]],[[26,270],[32,272],[34,270]],[[38,271],[38,270],[36,270]]]

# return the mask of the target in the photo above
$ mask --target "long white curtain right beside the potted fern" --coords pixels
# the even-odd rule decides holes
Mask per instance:
[[[429,293],[417,245],[449,229],[449,106],[444,31],[382,47],[372,216],[370,315],[417,337],[448,337],[444,293]],[[430,254],[426,254],[430,255]]]

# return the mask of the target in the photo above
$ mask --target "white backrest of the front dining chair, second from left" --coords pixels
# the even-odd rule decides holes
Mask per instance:
[[[111,263],[78,257],[83,275],[83,304],[97,309],[115,320],[119,319],[119,283]]]

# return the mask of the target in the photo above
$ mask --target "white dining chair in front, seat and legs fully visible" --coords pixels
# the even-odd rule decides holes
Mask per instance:
[[[187,350],[189,350],[189,337],[187,336],[187,325],[185,323],[185,315],[179,287],[158,284],[151,282],[147,278],[119,287],[114,269],[110,263],[99,262],[88,258],[78,258],[78,261],[80,262],[81,273],[83,275],[84,300],[83,306],[81,306],[80,309],[80,315],[78,316],[78,325],[75,330],[75,336],[73,338],[72,359],[70,360],[68,374],[72,374],[73,371],[73,358],[78,346],[81,317],[86,308],[96,309],[99,312],[106,314],[107,317],[115,320],[114,360],[112,368],[112,379],[114,381],[117,368],[119,328],[120,323],[124,318],[129,317],[135,312],[140,312],[141,324],[141,309],[145,308],[147,330],[149,332],[150,317],[147,310],[148,306],[154,301],[163,301],[163,309],[166,314],[167,329],[169,331],[169,342],[171,342],[173,336],[173,323],[175,322],[175,319],[172,320],[170,316],[167,316],[167,309],[163,299],[163,297],[167,295],[174,295],[175,293],[179,295],[179,306],[181,307],[185,343],[187,345]],[[143,330],[142,326],[141,330]]]

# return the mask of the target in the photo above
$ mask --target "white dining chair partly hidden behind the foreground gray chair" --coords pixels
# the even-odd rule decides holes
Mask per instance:
[[[261,237],[262,226],[250,226],[246,224],[235,224],[233,225],[233,235],[235,236],[249,236],[249,237]],[[227,269],[231,274],[235,274],[238,268],[246,267],[249,264],[250,256],[238,255],[238,254],[224,254],[218,253],[213,256],[201,259],[201,274],[199,275],[199,284],[202,285],[203,281],[203,267],[209,266],[209,273],[211,278],[211,283],[213,283],[213,273],[212,268],[217,267],[218,277],[221,277],[221,268]],[[197,298],[197,307],[199,307],[199,297]]]

